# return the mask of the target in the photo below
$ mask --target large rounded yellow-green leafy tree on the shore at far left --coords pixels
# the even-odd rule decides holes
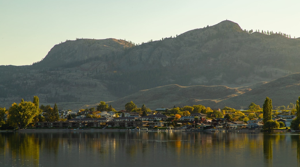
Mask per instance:
[[[8,122],[11,126],[22,128],[33,122],[38,116],[38,107],[31,101],[21,100],[21,103],[13,103],[8,109]]]

